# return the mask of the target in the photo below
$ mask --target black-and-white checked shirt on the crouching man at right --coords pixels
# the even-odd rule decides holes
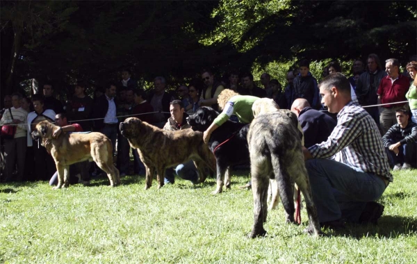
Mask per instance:
[[[377,124],[353,101],[338,113],[337,125],[327,141],[309,147],[309,151],[313,158],[332,158],[393,181]]]

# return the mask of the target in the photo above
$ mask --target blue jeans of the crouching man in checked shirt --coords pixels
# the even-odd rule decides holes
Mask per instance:
[[[320,222],[358,222],[366,203],[379,199],[386,188],[375,174],[334,160],[306,160],[306,169]]]

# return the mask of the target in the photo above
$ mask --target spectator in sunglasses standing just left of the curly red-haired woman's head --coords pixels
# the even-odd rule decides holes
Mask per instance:
[[[201,99],[199,100],[199,106],[210,106],[215,110],[218,110],[218,96],[224,86],[221,82],[215,81],[213,73],[209,70],[202,71],[202,81],[204,83]]]

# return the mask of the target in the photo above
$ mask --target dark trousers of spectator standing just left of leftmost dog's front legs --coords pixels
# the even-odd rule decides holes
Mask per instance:
[[[49,181],[56,172],[54,158],[48,153],[47,149],[33,140],[33,156],[35,158],[35,180]]]

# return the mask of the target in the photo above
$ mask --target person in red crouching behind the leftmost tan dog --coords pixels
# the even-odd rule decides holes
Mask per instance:
[[[67,115],[60,113],[55,116],[55,124],[60,126],[52,133],[53,138],[58,138],[60,133],[65,132],[83,132],[83,128],[79,124],[68,124]],[[90,174],[88,173],[88,160],[70,165],[70,184],[83,183],[84,185],[90,183]],[[58,184],[58,172],[55,172],[49,180],[49,185]]]

